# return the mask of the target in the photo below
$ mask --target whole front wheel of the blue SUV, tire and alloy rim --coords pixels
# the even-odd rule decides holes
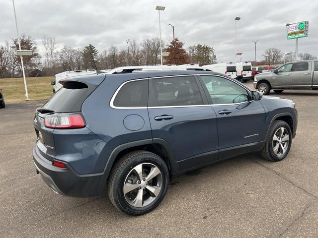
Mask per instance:
[[[270,161],[283,160],[292,145],[292,131],[289,124],[283,120],[274,121],[266,138],[261,156]]]

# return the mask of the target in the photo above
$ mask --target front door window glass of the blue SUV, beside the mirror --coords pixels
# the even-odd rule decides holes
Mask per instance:
[[[207,75],[200,77],[213,104],[232,104],[250,100],[247,90],[229,79]]]

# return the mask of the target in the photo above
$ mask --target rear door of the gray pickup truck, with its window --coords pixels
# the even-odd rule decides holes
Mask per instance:
[[[311,62],[296,62],[292,67],[292,86],[297,88],[312,87]]]

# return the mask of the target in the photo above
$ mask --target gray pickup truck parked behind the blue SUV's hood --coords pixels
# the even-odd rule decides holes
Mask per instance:
[[[288,62],[272,72],[255,75],[254,88],[263,94],[271,89],[276,93],[283,90],[318,89],[318,60]]]

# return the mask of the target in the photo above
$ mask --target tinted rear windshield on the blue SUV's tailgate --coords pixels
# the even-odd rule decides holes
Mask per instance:
[[[88,87],[84,83],[69,82],[63,85],[46,103],[41,107],[54,111],[55,113],[80,112],[81,105],[87,98]]]

